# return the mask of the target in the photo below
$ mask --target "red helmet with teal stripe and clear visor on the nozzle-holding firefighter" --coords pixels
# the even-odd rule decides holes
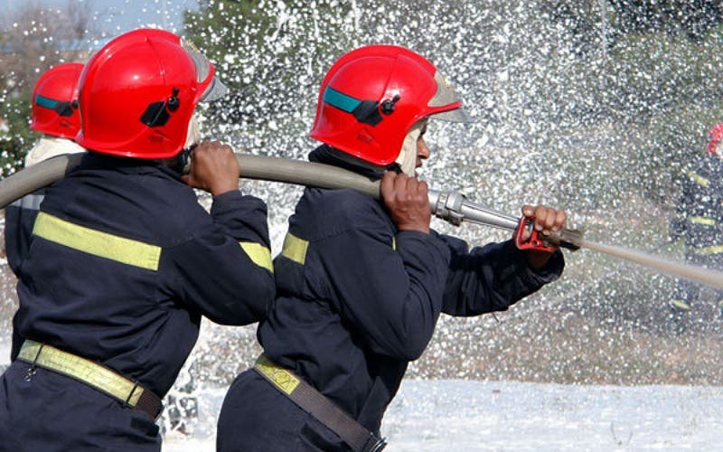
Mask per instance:
[[[311,137],[362,160],[389,165],[421,118],[467,122],[445,77],[416,52],[369,45],[348,52],[326,73]]]

